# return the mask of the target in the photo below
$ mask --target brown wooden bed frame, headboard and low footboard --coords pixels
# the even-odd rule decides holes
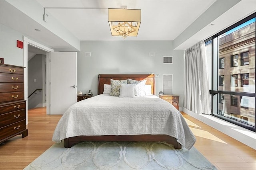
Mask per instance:
[[[151,94],[155,94],[155,75],[154,74],[99,74],[98,75],[98,94],[103,94],[104,84],[110,84],[110,79],[115,80],[144,80],[146,84],[151,85]],[[64,147],[70,148],[82,141],[165,141],[172,144],[175,149],[181,149],[182,146],[176,138],[168,135],[104,135],[104,136],[76,136],[64,139]]]

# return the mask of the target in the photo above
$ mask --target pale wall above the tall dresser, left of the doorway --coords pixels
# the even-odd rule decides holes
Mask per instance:
[[[24,66],[23,49],[17,47],[17,40],[23,42],[22,33],[0,23],[0,58],[5,64]]]

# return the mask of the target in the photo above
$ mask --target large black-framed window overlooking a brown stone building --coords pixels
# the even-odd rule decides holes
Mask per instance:
[[[205,42],[212,115],[255,129],[256,13]]]

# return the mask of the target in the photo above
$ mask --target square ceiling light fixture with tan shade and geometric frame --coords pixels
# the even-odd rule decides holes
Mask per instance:
[[[112,36],[137,36],[140,28],[140,10],[108,9],[108,23]]]

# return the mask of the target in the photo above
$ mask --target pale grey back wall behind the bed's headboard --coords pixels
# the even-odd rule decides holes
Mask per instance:
[[[121,38],[121,37],[120,37]],[[85,57],[90,52],[91,57]],[[149,57],[154,52],[155,57]],[[173,64],[163,64],[173,56]],[[97,95],[98,74],[159,74],[156,94],[162,91],[162,75],[173,74],[173,93],[183,103],[184,51],[174,51],[172,41],[81,41],[77,53],[77,90]]]

